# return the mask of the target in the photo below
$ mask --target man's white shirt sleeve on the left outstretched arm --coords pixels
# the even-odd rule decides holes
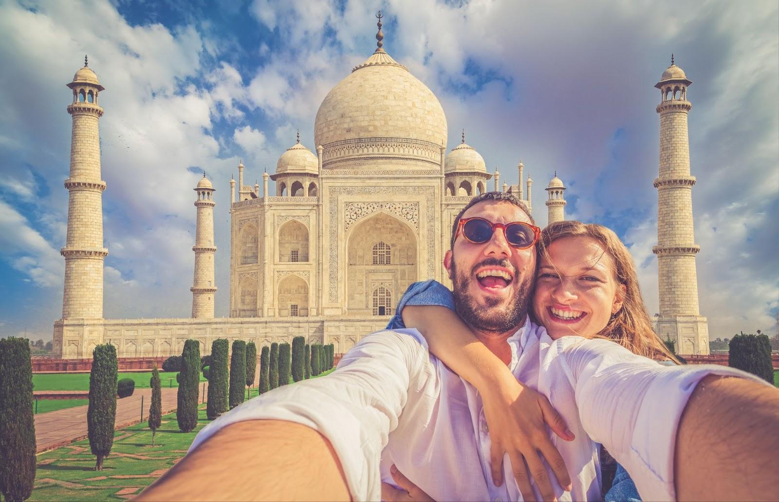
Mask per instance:
[[[411,336],[409,336],[411,335]],[[380,500],[379,462],[397,427],[410,385],[421,378],[426,349],[416,330],[369,334],[325,377],[277,387],[221,415],[201,430],[189,451],[235,422],[300,423],[333,444],[353,500]],[[301,445],[305,450],[305,445]]]

